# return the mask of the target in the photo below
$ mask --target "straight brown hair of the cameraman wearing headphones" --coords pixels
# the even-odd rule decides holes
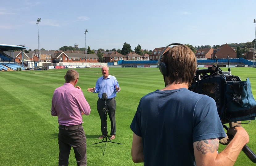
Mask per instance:
[[[162,57],[161,62],[167,62],[169,76],[165,77],[166,85],[186,84],[188,87],[196,72],[196,57],[186,45],[171,47]]]

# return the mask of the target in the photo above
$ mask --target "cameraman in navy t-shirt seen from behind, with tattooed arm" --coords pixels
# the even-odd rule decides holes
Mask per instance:
[[[168,77],[166,87],[142,97],[130,125],[134,163],[144,165],[233,165],[249,141],[241,126],[218,153],[219,138],[226,137],[215,101],[188,90],[196,71],[196,57],[186,45],[168,50],[161,59]],[[160,63],[161,63],[160,62]]]

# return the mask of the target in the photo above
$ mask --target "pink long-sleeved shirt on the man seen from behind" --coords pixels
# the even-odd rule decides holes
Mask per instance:
[[[51,114],[58,117],[60,125],[71,126],[83,123],[81,112],[89,115],[91,109],[80,89],[70,83],[55,89]]]

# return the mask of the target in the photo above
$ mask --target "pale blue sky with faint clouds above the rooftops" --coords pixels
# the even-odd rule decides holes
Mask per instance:
[[[222,45],[253,41],[256,0],[2,0],[0,43],[57,50],[67,45],[91,49],[153,50],[174,42]]]

